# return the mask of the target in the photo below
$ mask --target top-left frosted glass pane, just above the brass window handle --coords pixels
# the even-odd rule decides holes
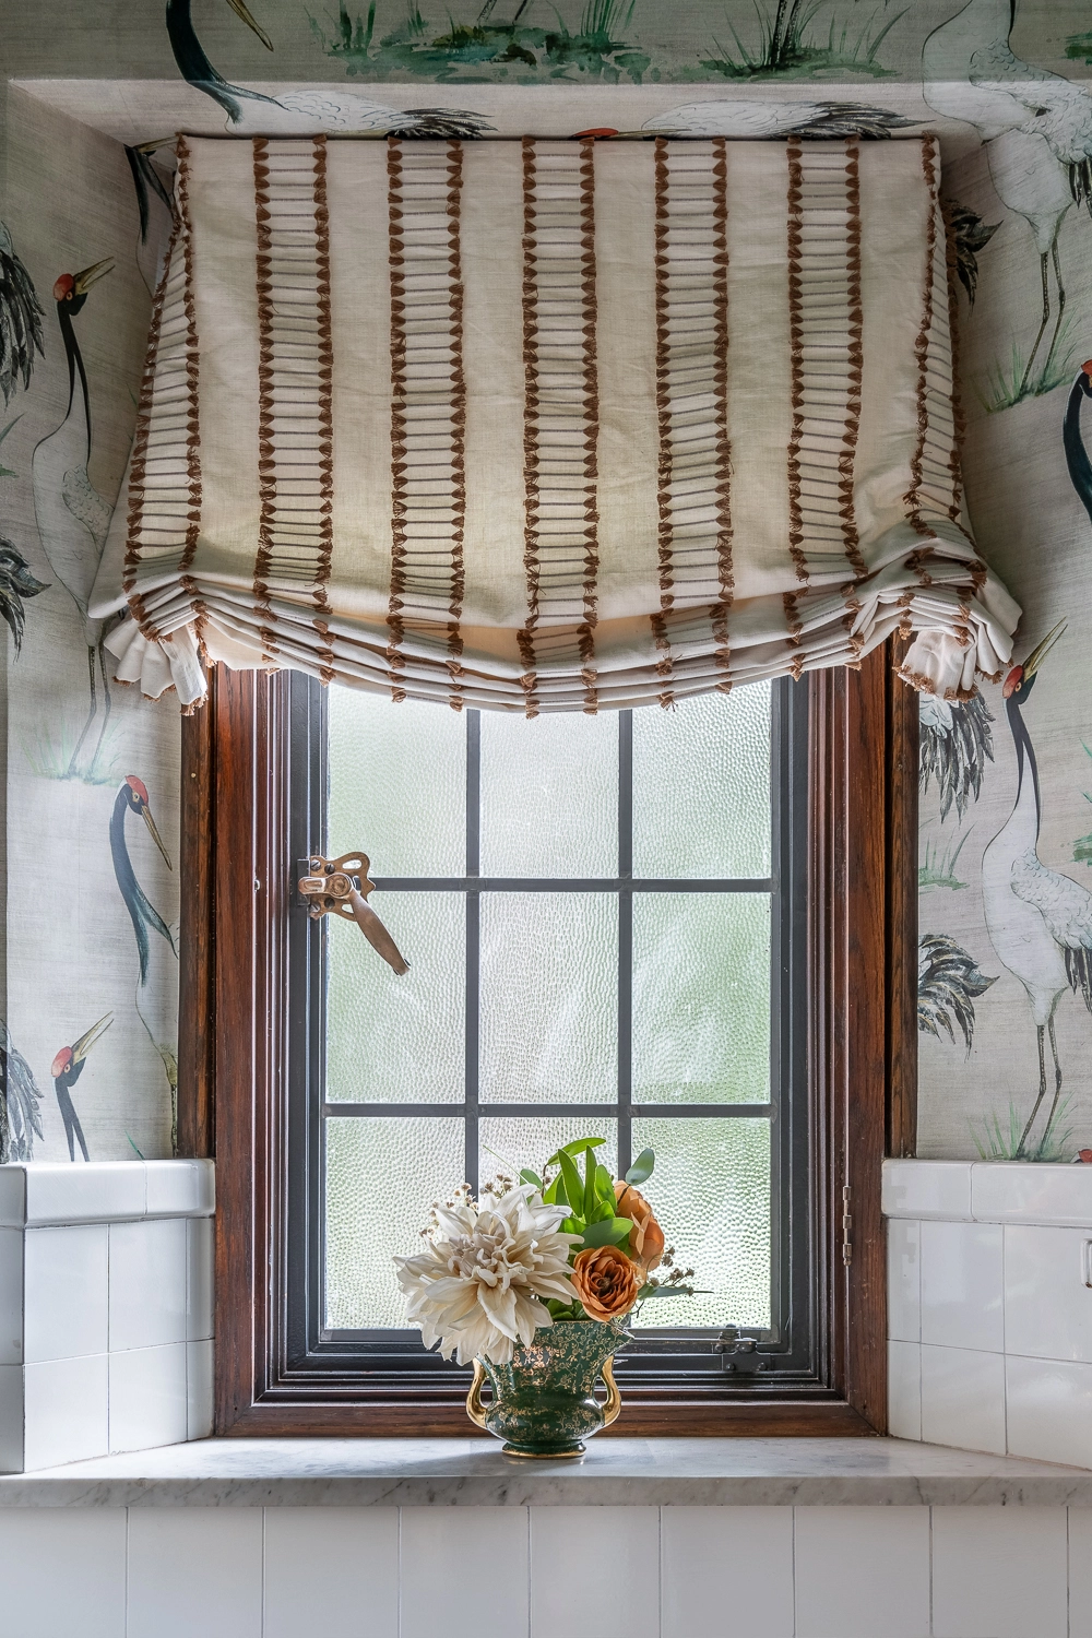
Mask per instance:
[[[467,721],[419,699],[329,688],[329,850],[377,876],[467,868]]]

